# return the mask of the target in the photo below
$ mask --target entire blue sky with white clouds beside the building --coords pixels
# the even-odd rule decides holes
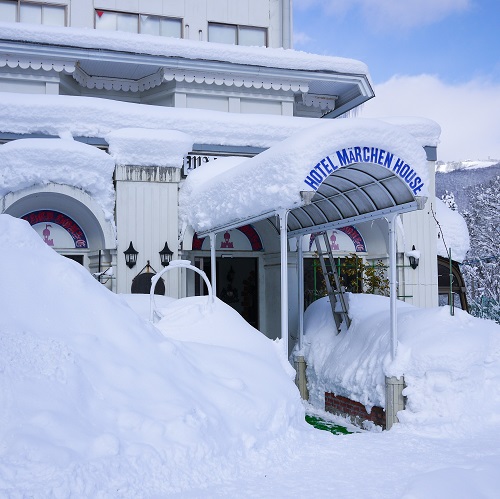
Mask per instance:
[[[294,0],[294,45],[368,65],[362,116],[425,116],[440,159],[500,160],[500,0]]]

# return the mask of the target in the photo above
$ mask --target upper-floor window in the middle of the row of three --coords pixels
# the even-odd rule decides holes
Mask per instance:
[[[147,14],[95,11],[95,27],[106,31],[127,31],[147,35],[182,38],[182,20]]]

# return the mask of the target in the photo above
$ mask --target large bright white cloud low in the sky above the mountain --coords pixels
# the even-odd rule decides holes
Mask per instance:
[[[500,160],[500,84],[448,85],[435,76],[394,76],[375,86],[363,117],[422,116],[441,126],[438,158]]]

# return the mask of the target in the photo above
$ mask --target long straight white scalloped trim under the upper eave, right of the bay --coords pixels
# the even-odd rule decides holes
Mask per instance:
[[[164,69],[163,78],[165,81],[177,81],[177,82],[187,82],[187,83],[206,83],[208,85],[225,85],[227,87],[245,87],[245,88],[256,88],[265,90],[291,90],[292,92],[308,92],[309,85],[306,82],[289,82],[289,81],[276,81],[275,79],[258,78],[253,76],[249,78],[244,76],[230,76],[222,73],[200,73],[199,71],[186,71],[183,69],[173,70]]]

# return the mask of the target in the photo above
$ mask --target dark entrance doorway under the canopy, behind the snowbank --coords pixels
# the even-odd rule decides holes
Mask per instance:
[[[211,279],[210,258],[196,258],[196,266]],[[217,258],[216,295],[234,308],[248,323],[259,324],[259,292],[257,258]],[[206,286],[196,276],[196,295],[206,294]]]

